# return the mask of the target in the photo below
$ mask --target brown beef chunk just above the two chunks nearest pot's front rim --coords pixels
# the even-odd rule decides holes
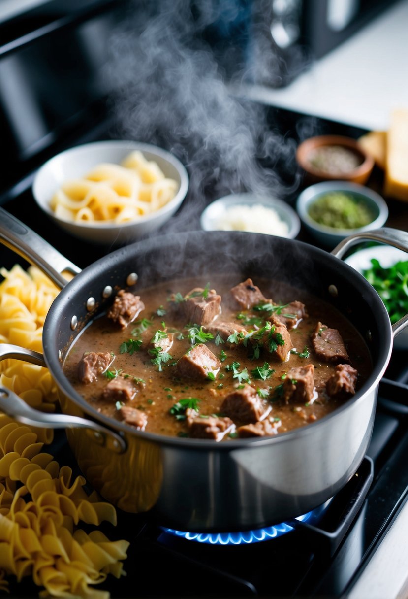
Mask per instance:
[[[245,424],[266,418],[270,409],[251,385],[244,385],[242,389],[229,393],[221,404],[223,414]]]

